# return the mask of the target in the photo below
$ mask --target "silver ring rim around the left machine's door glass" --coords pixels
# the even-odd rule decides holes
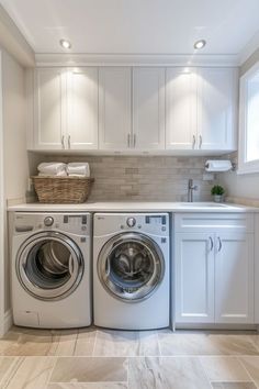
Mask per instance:
[[[44,289],[40,288],[32,279],[29,278],[24,270],[29,255],[33,247],[41,242],[56,241],[61,243],[71,254],[72,269],[69,280],[58,288]],[[61,300],[68,294],[71,294],[79,286],[83,275],[83,256],[78,245],[67,235],[54,231],[40,232],[29,237],[19,248],[16,254],[16,276],[22,287],[33,297],[38,300]]]

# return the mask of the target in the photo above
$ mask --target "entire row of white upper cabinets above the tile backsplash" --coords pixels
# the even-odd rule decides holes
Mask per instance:
[[[236,103],[233,68],[37,68],[30,148],[234,151]]]

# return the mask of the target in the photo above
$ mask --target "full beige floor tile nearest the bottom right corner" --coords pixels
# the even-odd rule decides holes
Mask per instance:
[[[236,357],[200,357],[210,381],[250,381],[250,378]]]

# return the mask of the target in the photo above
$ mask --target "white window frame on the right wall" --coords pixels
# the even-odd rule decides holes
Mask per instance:
[[[258,159],[247,162],[247,85],[249,79],[259,71],[259,62],[257,62],[248,71],[240,77],[240,98],[239,98],[239,127],[238,127],[238,170],[237,174],[259,173]]]

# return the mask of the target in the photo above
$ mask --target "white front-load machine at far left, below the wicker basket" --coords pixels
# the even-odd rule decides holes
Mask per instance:
[[[91,324],[91,215],[11,218],[14,324],[65,329]]]

